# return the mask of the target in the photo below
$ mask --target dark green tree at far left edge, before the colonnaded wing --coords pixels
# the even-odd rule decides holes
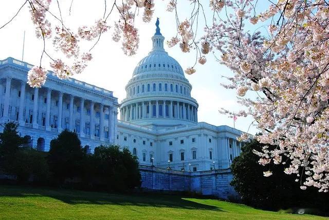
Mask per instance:
[[[12,161],[20,145],[25,143],[24,138],[17,131],[18,124],[6,122],[4,131],[0,133],[0,168],[5,172],[12,172]]]

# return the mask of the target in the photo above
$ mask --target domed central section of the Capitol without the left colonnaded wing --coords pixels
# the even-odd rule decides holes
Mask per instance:
[[[115,143],[145,166],[202,171],[229,168],[243,143],[229,126],[198,122],[192,85],[163,47],[156,27],[152,51],[136,66],[120,105]]]

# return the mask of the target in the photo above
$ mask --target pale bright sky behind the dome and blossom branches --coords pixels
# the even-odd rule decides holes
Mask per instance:
[[[62,14],[64,22],[67,26],[76,30],[79,26],[93,24],[95,20],[99,19],[103,15],[103,1],[91,1],[82,0],[74,1],[72,5],[71,16],[68,15],[69,3],[71,1],[63,1]],[[95,2],[95,4],[94,4]],[[79,3],[79,4],[78,4]],[[108,6],[111,1],[108,1]],[[90,84],[97,85],[99,87],[106,88],[114,91],[114,96],[119,98],[119,102],[125,98],[124,86],[132,77],[133,70],[137,63],[145,56],[152,48],[151,37],[155,33],[155,21],[156,17],[160,19],[160,29],[166,40],[169,40],[172,36],[176,35],[175,17],[171,12],[166,11],[166,1],[156,1],[156,7],[154,17],[151,23],[143,23],[141,19],[136,20],[137,27],[139,29],[140,45],[137,54],[133,57],[127,57],[121,50],[121,43],[115,43],[112,41],[112,30],[102,35],[100,42],[93,50],[93,61],[80,75],[75,75],[74,78],[88,82]],[[7,4],[7,5],[6,5]],[[8,21],[8,19],[16,12],[23,4],[23,1],[5,1],[2,3],[0,9],[0,26]],[[52,3],[54,4],[54,3]],[[211,14],[208,7],[208,2],[205,7],[207,16]],[[187,8],[189,5],[184,3],[179,5],[181,9],[180,19],[184,20],[189,16]],[[54,13],[57,13],[56,7],[50,8]],[[109,9],[108,9],[109,10]],[[142,13],[142,12],[140,12]],[[112,18],[110,17],[109,25],[112,25]],[[52,19],[49,19],[52,22]],[[202,33],[203,22],[200,20],[199,33]],[[34,27],[30,20],[30,15],[27,7],[25,7],[17,18],[7,27],[0,29],[0,60],[7,57],[13,57],[16,59],[22,59],[23,48],[23,33],[25,35],[25,52],[24,61],[38,65],[40,62],[40,56],[42,52],[43,42],[36,39],[34,33]],[[92,44],[84,44],[87,49]],[[56,51],[53,50],[52,44],[46,45],[50,54],[57,58]],[[194,65],[195,52],[182,53],[179,47],[168,48],[165,46],[170,56],[175,58],[183,69]],[[49,61],[44,59],[43,65],[48,68]],[[198,120],[204,121],[214,125],[229,125],[233,126],[233,119],[228,118],[225,115],[218,113],[218,109],[224,107],[231,111],[239,111],[242,106],[236,102],[236,91],[223,88],[220,83],[225,82],[222,76],[232,76],[232,72],[225,66],[220,65],[215,61],[212,54],[207,56],[207,63],[205,65],[197,65],[197,69],[194,75],[188,76],[187,79],[193,86],[191,95],[198,101]],[[236,129],[247,132],[252,118],[239,118],[235,122]],[[255,134],[257,129],[253,126],[250,127],[249,133]]]

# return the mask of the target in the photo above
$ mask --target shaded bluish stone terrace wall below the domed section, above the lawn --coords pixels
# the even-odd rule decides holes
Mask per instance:
[[[187,191],[202,195],[212,195],[228,199],[237,193],[230,182],[233,178],[230,169],[185,172],[149,166],[139,166],[144,189]]]

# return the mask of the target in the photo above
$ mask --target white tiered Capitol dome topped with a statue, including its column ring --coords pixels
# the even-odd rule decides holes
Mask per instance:
[[[135,67],[120,106],[122,121],[139,125],[173,126],[197,123],[198,104],[192,85],[179,63],[163,48],[159,20],[152,36],[153,48]]]

